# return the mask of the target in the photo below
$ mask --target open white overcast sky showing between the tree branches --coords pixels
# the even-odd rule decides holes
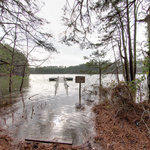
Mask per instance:
[[[44,66],[71,66],[78,65],[84,63],[85,60],[83,56],[88,56],[91,51],[90,50],[81,50],[78,45],[75,46],[66,46],[65,44],[61,44],[59,42],[59,37],[63,33],[65,27],[63,26],[63,22],[61,21],[61,17],[63,15],[63,6],[65,5],[66,0],[42,0],[45,5],[43,6],[40,16],[46,18],[50,24],[45,26],[45,30],[52,33],[54,35],[54,45],[59,51],[58,54],[52,54],[50,59],[45,62]],[[74,0],[69,0],[74,1]],[[145,28],[145,27],[144,27]],[[141,37],[144,36],[145,31],[143,31],[143,27],[138,30],[138,34],[140,35],[139,40],[143,39]],[[44,55],[44,54],[43,54]],[[110,54],[110,58],[113,54]],[[41,54],[42,56],[42,54]]]

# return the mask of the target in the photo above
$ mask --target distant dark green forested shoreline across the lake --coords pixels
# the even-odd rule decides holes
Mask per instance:
[[[114,73],[117,74],[115,63],[103,62],[103,66],[108,66],[102,69],[102,74]],[[138,73],[142,73],[142,61],[138,61]],[[99,74],[99,68],[90,63],[80,64],[77,66],[45,66],[30,68],[31,74]],[[121,67],[119,73],[122,73]]]

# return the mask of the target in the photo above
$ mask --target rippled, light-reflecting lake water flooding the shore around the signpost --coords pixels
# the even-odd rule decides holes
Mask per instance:
[[[49,81],[50,77],[58,76],[59,82]],[[98,100],[97,95],[86,93],[92,90],[92,84],[98,84],[98,75],[84,76],[84,110],[75,107],[79,92],[75,75],[30,75],[24,93],[14,98],[18,101],[0,109],[0,125],[21,140],[73,141],[74,145],[83,144],[94,135],[92,104],[89,105],[86,100]],[[65,82],[63,77],[73,77],[73,81]],[[113,80],[115,76],[107,75],[103,84]]]

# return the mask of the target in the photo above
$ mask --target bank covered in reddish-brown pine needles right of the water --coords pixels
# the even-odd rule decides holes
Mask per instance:
[[[106,150],[150,149],[150,104],[133,104],[122,111],[107,101],[95,106],[93,111],[95,143]]]

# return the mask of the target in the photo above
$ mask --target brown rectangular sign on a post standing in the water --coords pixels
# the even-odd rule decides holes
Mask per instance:
[[[85,76],[76,76],[75,82],[79,83],[79,107],[81,107],[81,83],[85,83]]]

